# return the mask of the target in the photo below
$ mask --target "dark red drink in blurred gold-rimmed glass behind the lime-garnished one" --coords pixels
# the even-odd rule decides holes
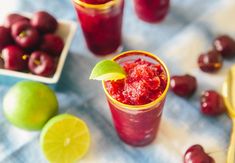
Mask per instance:
[[[107,0],[102,0],[103,2]],[[117,51],[122,42],[124,1],[120,0],[120,3],[105,10],[84,8],[78,4],[75,4],[75,7],[90,51],[96,55],[107,55]]]

